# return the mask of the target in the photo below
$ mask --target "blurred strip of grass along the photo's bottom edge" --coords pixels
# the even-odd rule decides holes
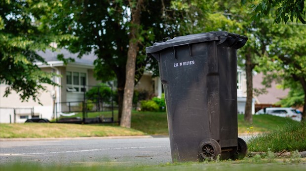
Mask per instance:
[[[1,171],[303,171],[305,164],[249,163],[225,161],[219,163],[175,163],[163,165],[122,166],[108,162],[91,165],[40,165],[39,163],[12,163],[1,165]]]

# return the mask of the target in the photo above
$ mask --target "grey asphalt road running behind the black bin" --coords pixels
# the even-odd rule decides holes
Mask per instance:
[[[241,137],[241,136],[240,136]],[[241,137],[247,140],[247,137]],[[83,138],[0,142],[0,164],[158,165],[171,161],[168,137]]]

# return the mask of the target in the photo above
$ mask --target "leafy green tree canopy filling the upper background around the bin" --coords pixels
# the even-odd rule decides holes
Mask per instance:
[[[241,7],[241,3],[250,4],[252,10]],[[38,90],[44,90],[43,83],[56,85],[51,79],[53,75],[42,72],[35,64],[45,62],[36,52],[52,48],[50,43],[56,42],[59,47],[79,52],[79,57],[94,52],[98,57],[96,77],[103,81],[117,79],[120,119],[126,81],[133,82],[127,88],[132,94],[134,83],[140,80],[148,63],[150,70],[155,75],[158,73],[157,62],[146,57],[145,47],[167,36],[212,30],[249,37],[245,47],[238,51],[238,61],[243,63],[247,79],[252,80],[253,69],[266,73],[273,70],[283,78],[284,87],[302,87],[305,94],[305,1],[241,0],[241,3],[234,0],[2,0],[0,82],[8,85],[4,95],[14,90],[23,100],[38,100]],[[278,25],[273,25],[273,20]],[[127,65],[128,59],[132,60]],[[128,72],[132,74],[128,76]],[[248,92],[252,92],[252,83],[247,84],[250,85]],[[131,94],[126,97],[130,101]],[[252,96],[248,93],[248,99]],[[305,102],[306,99],[304,106]],[[305,114],[306,107],[304,117]]]

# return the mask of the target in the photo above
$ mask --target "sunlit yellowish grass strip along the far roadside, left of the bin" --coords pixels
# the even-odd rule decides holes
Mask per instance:
[[[1,123],[0,132],[0,138],[64,138],[145,135],[141,131],[118,126],[63,123]]]

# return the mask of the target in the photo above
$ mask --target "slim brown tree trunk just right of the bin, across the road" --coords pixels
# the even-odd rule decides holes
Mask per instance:
[[[244,121],[248,123],[253,122],[252,116],[252,101],[253,101],[253,75],[252,70],[254,64],[252,63],[252,56],[250,53],[246,54],[245,72],[246,72],[246,102],[244,109]]]

